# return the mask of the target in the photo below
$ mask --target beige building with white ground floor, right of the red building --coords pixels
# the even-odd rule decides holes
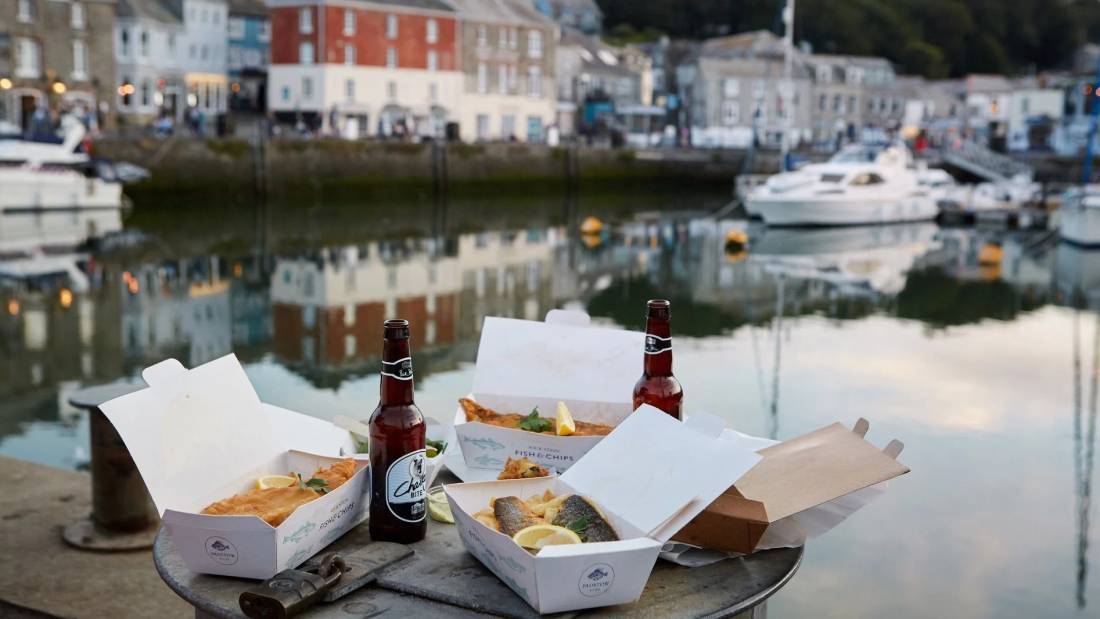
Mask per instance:
[[[526,0],[450,0],[461,20],[462,139],[539,142],[553,122],[553,22]]]

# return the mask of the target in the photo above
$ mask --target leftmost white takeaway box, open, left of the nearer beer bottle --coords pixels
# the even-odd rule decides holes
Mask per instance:
[[[367,515],[369,462],[339,488],[272,527],[255,516],[205,516],[207,505],[261,475],[304,477],[354,453],[331,423],[260,401],[228,355],[191,371],[168,360],[145,368],[146,389],[100,408],[122,436],[187,567],[268,578],[296,567]]]

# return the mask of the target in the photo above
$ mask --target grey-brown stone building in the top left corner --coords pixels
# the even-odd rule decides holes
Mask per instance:
[[[0,0],[0,122],[79,108],[113,123],[114,0]],[[95,113],[91,113],[95,111]]]

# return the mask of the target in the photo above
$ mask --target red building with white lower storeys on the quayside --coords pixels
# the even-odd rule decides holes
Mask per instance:
[[[268,109],[345,136],[442,135],[461,99],[458,20],[442,0],[267,0]]]

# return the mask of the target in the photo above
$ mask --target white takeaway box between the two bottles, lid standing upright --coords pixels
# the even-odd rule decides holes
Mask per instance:
[[[501,412],[538,406],[542,417],[563,401],[575,419],[617,425],[631,411],[645,334],[587,323],[583,312],[561,310],[546,322],[485,318],[471,397]],[[603,440],[468,422],[461,406],[454,430],[466,466],[494,471],[509,457],[564,471]]]

